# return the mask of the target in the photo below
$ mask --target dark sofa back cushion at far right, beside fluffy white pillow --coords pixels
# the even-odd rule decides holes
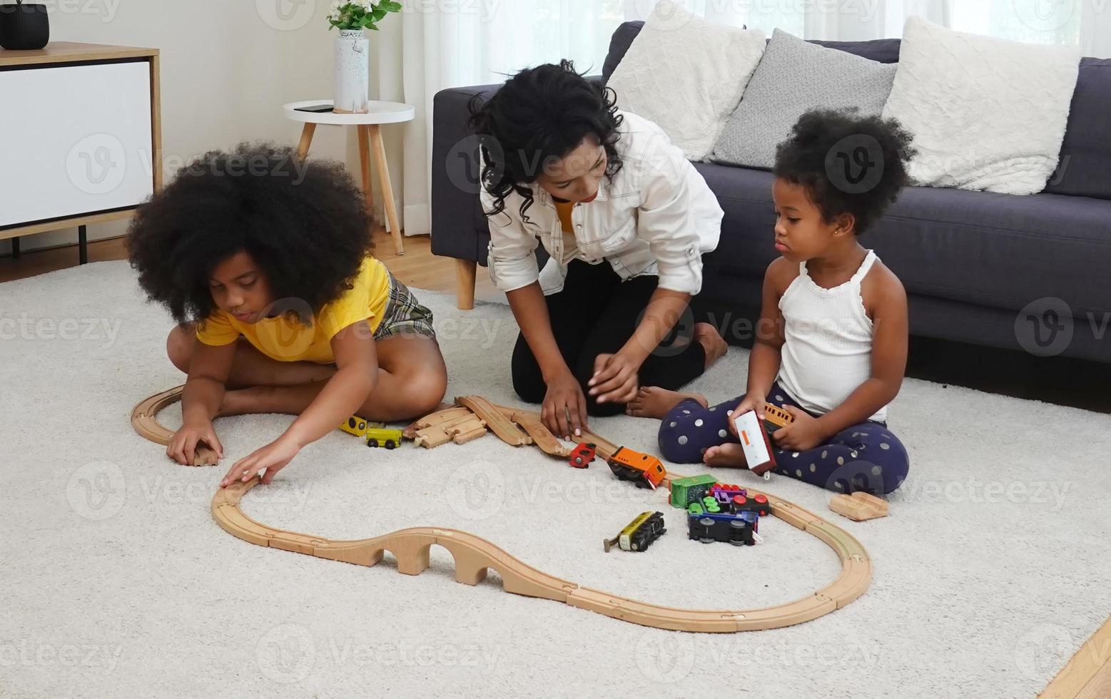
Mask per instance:
[[[1080,61],[1061,161],[1045,191],[1111,199],[1111,59]]]

